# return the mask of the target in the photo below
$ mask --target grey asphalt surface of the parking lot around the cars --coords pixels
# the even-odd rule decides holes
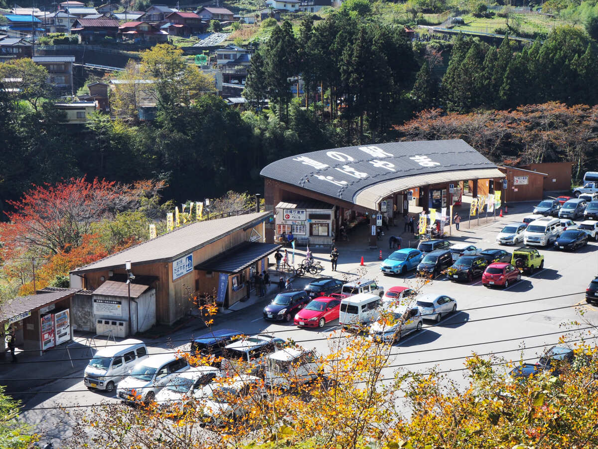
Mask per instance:
[[[518,221],[527,214],[511,215],[508,219],[496,221],[490,219],[487,224],[481,220],[481,226],[477,229],[470,230],[462,226],[462,230],[451,240],[472,242],[484,249],[496,248],[495,235],[505,223]],[[508,247],[505,249],[509,251]],[[328,253],[319,254],[313,249],[312,252],[316,258],[328,260]],[[385,256],[388,252],[384,251]],[[576,327],[568,327],[568,323],[581,319],[580,310],[585,313],[584,320],[598,323],[598,309],[586,305],[584,299],[585,288],[598,272],[598,244],[591,242],[576,253],[552,249],[540,249],[540,252],[545,256],[545,268],[531,276],[524,275],[520,282],[506,290],[486,289],[480,280],[468,284],[439,279],[421,287],[423,293],[439,293],[456,299],[459,310],[439,324],[425,322],[422,331],[395,344],[390,363],[392,368],[387,369],[385,377],[392,377],[397,368],[411,371],[438,368],[446,371],[457,386],[463,386],[466,382],[463,363],[465,357],[473,352],[493,353],[515,361],[521,357],[533,358],[541,354],[545,347],[556,344],[570,327]],[[420,281],[414,278],[413,273],[405,277],[386,276],[380,274],[378,262],[370,262],[359,268],[355,260],[351,263],[344,260],[343,263],[341,257],[338,268],[345,273],[344,277],[350,278],[351,273],[360,269],[365,272],[364,278],[376,278],[385,289],[401,285],[419,287]],[[328,269],[329,263],[325,263],[325,266]],[[331,272],[325,271],[324,274]],[[294,284],[300,287],[302,283],[303,280],[297,280]],[[231,315],[218,327],[239,329],[245,333],[277,332],[278,336],[292,338],[306,348],[327,353],[328,336],[340,332],[338,323],[330,324],[331,327],[327,326],[323,330],[297,329],[292,324],[266,322],[262,318],[261,307],[250,307],[242,314]],[[193,333],[199,335],[202,330],[184,330],[170,338],[178,346],[188,341]],[[570,338],[579,338],[576,333],[568,335]],[[166,341],[148,342],[148,347],[150,353],[169,350]],[[38,394],[25,402],[26,409],[116,401],[114,393],[108,395],[87,390],[81,378],[60,379],[38,390]],[[74,423],[71,415],[58,409],[32,409],[24,411],[22,415],[39,430],[49,430],[50,437],[65,438]],[[58,443],[58,440],[54,442]]]

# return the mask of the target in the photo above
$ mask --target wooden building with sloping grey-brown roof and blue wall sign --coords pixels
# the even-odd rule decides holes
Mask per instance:
[[[264,242],[272,216],[239,214],[178,227],[74,269],[71,287],[93,290],[96,332],[99,321],[108,321],[115,335],[128,333],[129,323],[133,333],[154,322],[172,324],[194,307],[194,296],[214,296],[230,307],[247,296],[252,274],[267,269],[267,257],[280,247]]]

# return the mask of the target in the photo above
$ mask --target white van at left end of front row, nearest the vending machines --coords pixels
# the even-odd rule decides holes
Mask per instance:
[[[102,348],[89,361],[83,374],[83,383],[89,389],[111,392],[133,366],[148,357],[148,348],[141,340],[129,338]]]

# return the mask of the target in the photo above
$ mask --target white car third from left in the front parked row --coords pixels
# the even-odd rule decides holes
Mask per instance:
[[[193,393],[196,390],[202,389],[221,375],[222,371],[213,366],[194,366],[173,377],[166,387],[155,395],[155,402],[165,408],[179,406],[186,399],[193,398]]]

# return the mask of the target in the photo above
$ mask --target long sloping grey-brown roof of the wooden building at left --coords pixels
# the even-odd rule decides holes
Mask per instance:
[[[111,254],[89,265],[81,266],[71,271],[71,273],[83,274],[99,269],[124,266],[127,260],[130,260],[133,265],[141,265],[142,263],[157,260],[172,261],[235,230],[243,229],[254,223],[260,223],[271,215],[271,212],[258,212],[190,223],[126,250]]]

